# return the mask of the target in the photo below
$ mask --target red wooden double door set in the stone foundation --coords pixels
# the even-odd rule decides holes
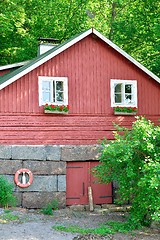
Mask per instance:
[[[90,169],[98,162],[68,162],[66,205],[88,204],[88,187],[92,187],[93,203],[112,203],[112,184],[96,183]]]

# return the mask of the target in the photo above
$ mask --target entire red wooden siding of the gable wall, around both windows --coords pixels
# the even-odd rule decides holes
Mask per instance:
[[[38,103],[38,76],[68,77],[70,111],[46,115]],[[0,91],[0,143],[93,144],[111,139],[115,117],[110,79],[138,82],[138,114],[158,122],[160,85],[98,38],[88,36]],[[11,127],[13,126],[13,127]]]

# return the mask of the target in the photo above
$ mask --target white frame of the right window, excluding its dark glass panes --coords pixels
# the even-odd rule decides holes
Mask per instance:
[[[122,92],[122,102],[115,103],[115,92],[114,92],[114,85],[121,83],[123,84],[123,92]],[[131,84],[133,89],[133,103],[126,103],[125,102],[125,84]],[[121,79],[111,79],[111,107],[137,107],[137,80],[121,80]]]

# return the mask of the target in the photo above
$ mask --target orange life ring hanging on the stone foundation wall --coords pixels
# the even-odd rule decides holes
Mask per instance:
[[[19,181],[19,175],[22,173],[22,183]],[[25,177],[25,174],[28,174],[29,176],[29,180],[28,182],[26,182],[26,177]],[[33,174],[32,172],[27,169],[27,168],[21,168],[19,169],[16,173],[15,173],[15,176],[14,176],[14,182],[15,184],[18,186],[18,187],[21,187],[21,188],[26,188],[26,187],[29,187],[32,182],[33,182]]]

